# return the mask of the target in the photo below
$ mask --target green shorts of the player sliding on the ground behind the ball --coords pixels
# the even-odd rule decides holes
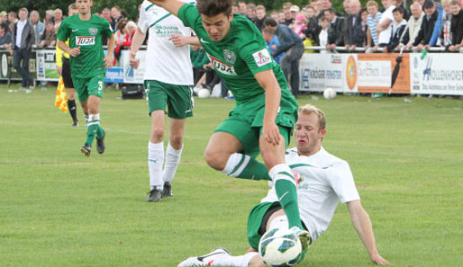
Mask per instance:
[[[269,209],[273,209],[274,212],[278,209],[281,209],[279,202],[262,202],[254,206],[252,210],[250,210],[250,216],[248,217],[248,242],[250,246],[255,249],[256,251],[259,250],[259,241],[260,237],[265,234],[265,230],[267,227],[267,220],[271,214],[268,214],[266,221],[264,222],[264,217],[266,217],[266,213]],[[265,226],[261,229],[262,224],[265,223]]]

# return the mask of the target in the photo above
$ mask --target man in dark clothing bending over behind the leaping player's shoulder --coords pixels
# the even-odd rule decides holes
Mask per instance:
[[[280,41],[280,46],[275,53],[272,53],[272,57],[275,58],[282,52],[286,52],[286,55],[280,59],[280,66],[286,80],[291,85],[291,93],[296,97],[299,93],[299,61],[304,54],[303,40],[288,26],[277,23],[272,18],[265,20],[264,24],[266,28],[275,30],[275,35]]]

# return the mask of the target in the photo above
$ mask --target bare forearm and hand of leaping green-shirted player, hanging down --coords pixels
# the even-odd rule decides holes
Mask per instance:
[[[254,77],[265,90],[265,113],[262,135],[269,143],[277,146],[280,142],[280,133],[275,120],[277,119],[277,111],[280,106],[281,88],[272,69],[258,72]]]

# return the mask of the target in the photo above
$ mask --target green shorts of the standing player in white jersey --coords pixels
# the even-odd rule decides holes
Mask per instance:
[[[189,85],[168,85],[159,81],[145,80],[148,109],[166,111],[173,119],[193,117],[193,90]]]

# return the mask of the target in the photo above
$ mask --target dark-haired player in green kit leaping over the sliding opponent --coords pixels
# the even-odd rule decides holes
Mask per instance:
[[[236,107],[206,147],[207,164],[232,177],[272,180],[289,227],[305,249],[310,236],[297,206],[298,179],[285,164],[297,102],[258,28],[232,13],[232,0],[198,0],[196,6],[177,0],[150,2],[195,31],[213,68],[235,97]],[[259,152],[265,165],[255,160]]]

